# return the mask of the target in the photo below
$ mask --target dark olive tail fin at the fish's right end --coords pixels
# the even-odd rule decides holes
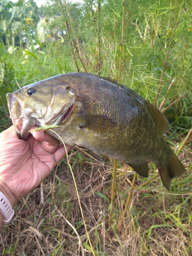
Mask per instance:
[[[177,178],[185,173],[185,168],[172,150],[169,162],[164,166],[158,166],[158,170],[163,185],[166,187],[167,190],[169,190],[170,181],[173,178]]]

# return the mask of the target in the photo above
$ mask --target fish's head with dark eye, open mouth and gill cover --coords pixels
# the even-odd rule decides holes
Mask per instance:
[[[7,94],[10,118],[18,136],[27,139],[32,126],[59,125],[73,111],[75,95],[65,84],[49,79]]]

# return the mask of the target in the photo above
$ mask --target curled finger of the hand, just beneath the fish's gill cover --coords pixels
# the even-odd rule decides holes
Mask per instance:
[[[46,150],[47,152],[53,153],[59,147],[60,142],[46,132],[39,130],[31,133],[35,139],[42,142],[41,145],[44,148],[44,150]]]

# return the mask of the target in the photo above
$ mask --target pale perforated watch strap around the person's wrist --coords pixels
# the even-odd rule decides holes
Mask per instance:
[[[1,191],[0,191],[0,212],[3,215],[5,224],[8,224],[11,221],[15,213],[9,200]]]

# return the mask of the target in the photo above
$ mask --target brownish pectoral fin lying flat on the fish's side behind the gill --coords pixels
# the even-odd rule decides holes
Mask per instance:
[[[116,121],[105,115],[79,113],[81,119],[80,127],[86,127],[94,131],[108,130],[116,124]]]

